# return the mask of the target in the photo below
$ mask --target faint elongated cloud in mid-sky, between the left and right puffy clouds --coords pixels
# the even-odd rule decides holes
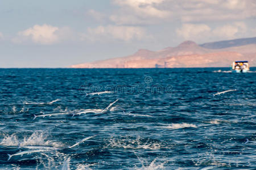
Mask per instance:
[[[88,35],[85,35],[85,39],[92,41],[100,40],[142,40],[146,38],[146,31],[141,27],[125,27],[108,25],[106,27],[99,26],[96,28],[88,28]]]

